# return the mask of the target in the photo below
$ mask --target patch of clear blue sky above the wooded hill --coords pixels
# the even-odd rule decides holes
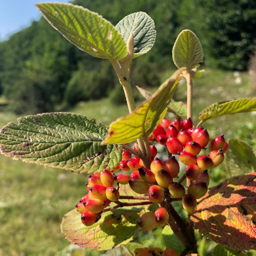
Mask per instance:
[[[30,25],[41,16],[35,3],[69,0],[3,0],[0,2],[0,41]]]

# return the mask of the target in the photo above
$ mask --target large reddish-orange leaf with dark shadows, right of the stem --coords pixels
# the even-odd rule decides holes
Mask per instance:
[[[236,176],[213,187],[190,216],[195,229],[236,250],[256,249],[256,173]]]

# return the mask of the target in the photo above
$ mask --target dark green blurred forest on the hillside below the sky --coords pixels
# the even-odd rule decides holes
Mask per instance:
[[[157,86],[160,72],[173,67],[172,46],[182,29],[191,29],[202,42],[205,65],[225,70],[247,70],[255,48],[255,0],[74,0],[98,12],[113,25],[122,17],[147,12],[155,21],[153,49],[134,60],[133,84]],[[110,96],[123,99],[113,68],[80,51],[46,20],[0,43],[1,108],[21,113],[61,109],[79,101]]]

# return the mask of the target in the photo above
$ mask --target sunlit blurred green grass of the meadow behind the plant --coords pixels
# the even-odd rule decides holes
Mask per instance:
[[[163,79],[169,75],[165,73]],[[242,73],[241,78],[242,83],[238,85],[232,72],[207,69],[194,83],[194,120],[213,102],[253,96],[248,74]],[[185,97],[186,84],[183,83],[179,85],[175,99],[185,100]],[[128,113],[126,105],[111,105],[108,99],[80,102],[68,111],[96,117],[97,122],[104,124]],[[11,113],[0,113],[0,125],[16,118]],[[226,138],[239,137],[256,144],[254,120],[252,113],[242,113],[209,120],[204,126],[212,137],[224,133]],[[71,255],[69,251],[73,250],[79,255],[64,239],[60,224],[62,216],[84,195],[85,176],[13,161],[2,155],[0,170],[0,255],[63,256]],[[81,250],[81,255],[102,253]]]

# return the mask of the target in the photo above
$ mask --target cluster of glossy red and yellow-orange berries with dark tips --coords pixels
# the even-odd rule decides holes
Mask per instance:
[[[151,165],[150,169],[145,168],[143,160],[135,154],[134,157],[126,150],[122,153],[122,160],[113,170],[104,169],[102,172],[95,172],[90,175],[87,182],[88,193],[76,204],[81,212],[81,221],[84,225],[94,224],[103,212],[118,207],[130,205],[160,204],[155,212],[146,212],[138,220],[143,230],[151,230],[155,227],[163,227],[169,220],[168,204],[163,202],[182,201],[183,208],[187,212],[193,212],[197,206],[197,199],[207,193],[209,175],[207,169],[218,166],[224,160],[224,153],[228,144],[224,135],[219,135],[210,143],[209,155],[200,154],[202,149],[209,143],[207,129],[202,126],[192,128],[190,118],[180,119],[164,118],[160,125],[153,131],[148,141],[157,141],[165,145],[169,152],[169,159],[164,162],[156,157],[157,148],[150,145]],[[174,181],[180,173],[180,164],[173,154],[178,156],[181,163],[186,165],[185,174],[179,180]],[[148,166],[149,167],[149,166]],[[130,175],[124,173],[114,174],[119,170],[132,170]],[[190,180],[190,185],[182,185],[185,178]],[[137,194],[148,196],[121,196],[119,195],[119,184],[129,184],[130,188]],[[140,203],[122,203],[119,199],[141,199],[148,200]],[[115,207],[107,208],[111,202],[116,203]],[[163,205],[165,207],[163,207]]]

